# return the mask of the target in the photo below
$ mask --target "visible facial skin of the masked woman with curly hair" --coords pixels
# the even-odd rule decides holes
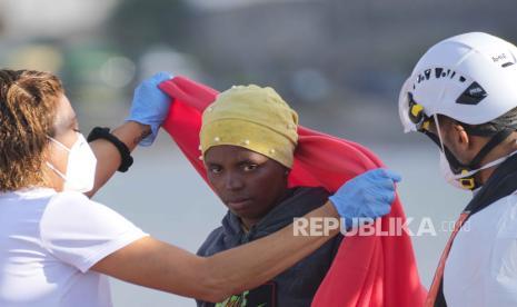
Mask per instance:
[[[64,95],[61,95],[58,100],[54,131],[56,135],[50,137],[64,145],[67,148],[71,148],[78,138],[77,132],[79,131],[79,123],[77,121],[76,112]],[[67,174],[68,155],[67,150],[49,140],[47,160],[62,174]],[[52,188],[62,190],[63,179],[48,167],[46,169],[48,177],[51,180]]]

